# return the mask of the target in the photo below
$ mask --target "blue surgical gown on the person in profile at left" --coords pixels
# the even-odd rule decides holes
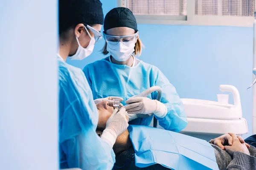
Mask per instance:
[[[83,72],[58,57],[58,81],[61,169],[112,169],[115,154],[96,134],[99,113]]]

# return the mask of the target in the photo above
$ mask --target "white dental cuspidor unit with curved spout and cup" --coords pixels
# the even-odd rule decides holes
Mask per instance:
[[[233,94],[234,105],[228,104],[228,96],[218,95],[218,102],[201,99],[181,99],[188,119],[181,133],[205,140],[225,133],[248,133],[247,121],[242,118],[239,91],[232,85],[220,85],[222,92]]]

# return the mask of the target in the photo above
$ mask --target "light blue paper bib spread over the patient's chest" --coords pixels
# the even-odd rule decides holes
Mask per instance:
[[[130,125],[135,165],[161,164],[173,170],[218,170],[214,148],[205,140],[154,127]]]

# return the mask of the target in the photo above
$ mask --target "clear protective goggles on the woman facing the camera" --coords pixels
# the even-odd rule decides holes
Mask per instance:
[[[113,35],[107,35],[103,32],[103,36],[106,42],[111,42],[112,44],[114,43],[118,44],[118,42],[130,42],[130,41],[133,42],[137,40],[138,34],[139,34],[139,31],[131,35],[113,36]]]

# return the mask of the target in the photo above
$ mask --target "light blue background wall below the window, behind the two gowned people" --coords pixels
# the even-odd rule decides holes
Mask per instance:
[[[104,14],[116,7],[116,0],[102,3]],[[252,28],[140,24],[138,29],[145,45],[140,59],[160,68],[181,98],[217,100],[219,85],[236,86],[249,127],[245,136],[252,133],[252,89],[246,90],[252,82]],[[103,44],[83,61],[68,62],[83,68],[102,59]]]

